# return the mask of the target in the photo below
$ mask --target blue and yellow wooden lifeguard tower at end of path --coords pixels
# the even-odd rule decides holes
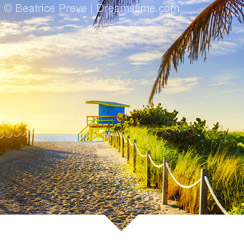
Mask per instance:
[[[115,124],[122,123],[126,104],[104,101],[87,101],[98,104],[98,116],[86,116],[86,127],[78,134],[78,141],[104,141]]]

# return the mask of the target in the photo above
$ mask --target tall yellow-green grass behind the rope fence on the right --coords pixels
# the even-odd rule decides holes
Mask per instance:
[[[183,185],[191,185],[200,178],[201,169],[209,170],[209,181],[221,204],[230,211],[233,206],[241,206],[244,202],[244,163],[243,157],[230,156],[228,151],[210,154],[203,159],[193,150],[178,152],[174,148],[166,148],[163,140],[149,135],[146,128],[130,127],[125,131],[130,135],[131,142],[137,140],[142,154],[151,150],[152,159],[162,164],[164,156],[169,158],[169,165],[175,178]],[[132,147],[130,146],[132,155]],[[137,154],[138,155],[138,154]],[[132,170],[132,157],[128,169]],[[146,159],[137,156],[137,178],[146,186]],[[151,187],[162,188],[162,169],[151,168]],[[178,206],[190,213],[199,211],[200,185],[191,189],[183,189],[176,185],[169,176],[169,197],[178,200]],[[208,195],[210,213],[220,213],[211,195]]]

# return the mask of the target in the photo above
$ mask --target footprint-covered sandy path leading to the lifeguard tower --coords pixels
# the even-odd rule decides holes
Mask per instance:
[[[107,143],[39,142],[0,156],[0,214],[105,214],[120,229],[162,207],[158,191],[135,189]]]

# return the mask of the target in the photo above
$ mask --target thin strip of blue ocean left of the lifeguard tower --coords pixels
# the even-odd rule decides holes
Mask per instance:
[[[77,134],[35,134],[35,141],[77,141]]]

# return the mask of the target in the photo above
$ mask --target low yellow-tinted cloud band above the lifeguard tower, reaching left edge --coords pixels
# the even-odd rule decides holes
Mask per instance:
[[[137,80],[120,77],[102,78],[95,75],[99,69],[79,70],[70,67],[33,68],[29,65],[0,67],[0,91],[28,92],[84,92],[106,91],[118,94],[133,92]]]

